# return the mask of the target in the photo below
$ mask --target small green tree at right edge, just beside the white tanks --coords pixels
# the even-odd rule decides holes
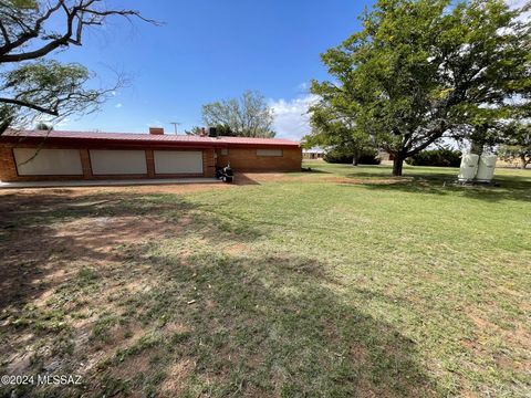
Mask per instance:
[[[502,159],[519,159],[520,168],[531,164],[531,124],[512,122],[508,128],[507,140],[500,146],[499,155]]]

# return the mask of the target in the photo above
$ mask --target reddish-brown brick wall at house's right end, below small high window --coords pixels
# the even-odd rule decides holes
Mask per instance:
[[[263,148],[266,149],[266,148]],[[217,165],[230,166],[235,171],[300,171],[302,149],[293,147],[282,149],[282,156],[258,156],[257,148],[229,148],[228,155],[217,150]]]

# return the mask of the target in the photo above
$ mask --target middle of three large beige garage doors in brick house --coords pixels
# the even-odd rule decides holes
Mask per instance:
[[[92,174],[136,175],[147,174],[145,150],[91,150]]]

